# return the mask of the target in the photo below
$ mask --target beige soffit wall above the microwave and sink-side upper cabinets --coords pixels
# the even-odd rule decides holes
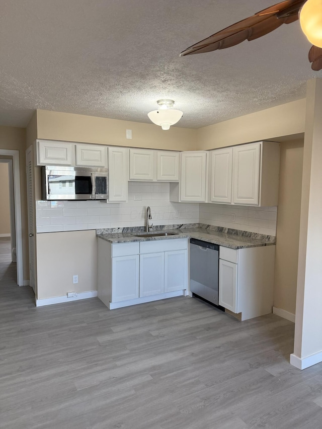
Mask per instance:
[[[132,139],[126,139],[126,130]],[[153,149],[194,150],[197,130],[37,110],[38,138]]]

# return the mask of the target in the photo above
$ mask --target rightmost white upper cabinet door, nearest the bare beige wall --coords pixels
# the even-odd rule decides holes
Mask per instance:
[[[233,147],[233,202],[259,204],[261,144]]]

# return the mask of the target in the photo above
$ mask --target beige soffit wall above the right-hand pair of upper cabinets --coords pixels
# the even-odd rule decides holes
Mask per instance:
[[[306,100],[297,100],[199,128],[198,149],[214,149],[304,132]]]

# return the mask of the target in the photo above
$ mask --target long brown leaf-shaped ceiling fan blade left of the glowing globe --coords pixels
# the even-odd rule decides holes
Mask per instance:
[[[296,17],[295,11],[297,10],[298,12],[305,1],[306,0],[286,0],[273,5],[270,8],[264,9],[251,17],[232,24],[212,36],[195,43],[182,51],[180,56],[224,49],[241,43],[246,39],[253,40],[261,37],[275,30],[275,28],[279,27],[284,22],[289,24],[290,22],[296,21],[298,16]],[[277,15],[280,15],[280,17],[277,17]],[[225,39],[228,39],[227,42],[224,42]]]

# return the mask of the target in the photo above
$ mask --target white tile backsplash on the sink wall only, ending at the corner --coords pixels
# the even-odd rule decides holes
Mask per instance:
[[[199,204],[170,202],[169,183],[129,182],[126,203],[36,201],[37,232],[144,226],[151,208],[153,225],[199,222]]]

